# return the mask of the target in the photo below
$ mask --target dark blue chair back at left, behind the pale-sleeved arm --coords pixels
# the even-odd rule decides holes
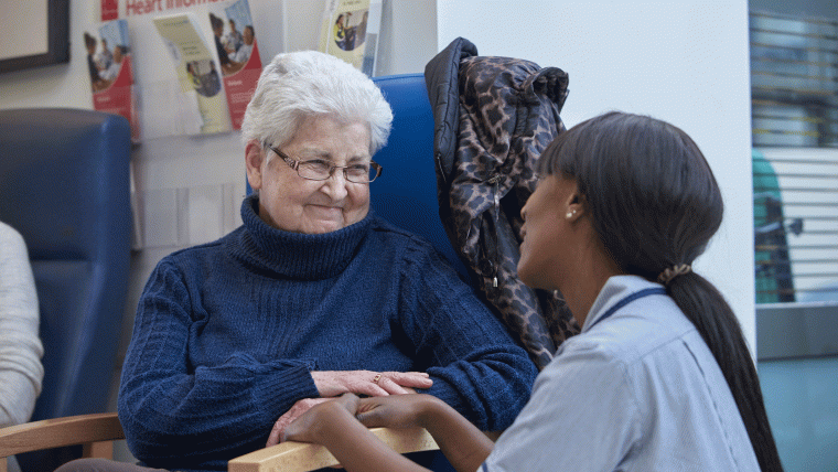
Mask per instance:
[[[0,111],[0,221],[26,243],[44,382],[32,420],[104,412],[128,287],[130,127],[76,109]],[[19,457],[52,471],[75,452]]]

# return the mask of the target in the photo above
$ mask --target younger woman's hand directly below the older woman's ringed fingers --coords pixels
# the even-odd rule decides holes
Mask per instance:
[[[355,417],[367,428],[423,427],[422,415],[434,401],[430,395],[399,395],[361,399],[355,406]]]

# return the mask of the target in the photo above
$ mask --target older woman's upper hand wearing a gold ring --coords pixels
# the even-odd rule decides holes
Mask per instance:
[[[352,393],[370,397],[416,393],[430,388],[433,380],[423,372],[321,371],[311,377],[321,397]]]

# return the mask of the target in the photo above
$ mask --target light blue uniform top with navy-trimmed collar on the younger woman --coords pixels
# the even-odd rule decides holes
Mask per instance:
[[[659,288],[609,279],[481,470],[759,472],[721,369],[675,302],[649,293]]]

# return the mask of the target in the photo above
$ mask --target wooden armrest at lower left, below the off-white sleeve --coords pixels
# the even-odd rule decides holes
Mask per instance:
[[[115,412],[45,419],[0,429],[0,458],[120,439],[125,433]]]

